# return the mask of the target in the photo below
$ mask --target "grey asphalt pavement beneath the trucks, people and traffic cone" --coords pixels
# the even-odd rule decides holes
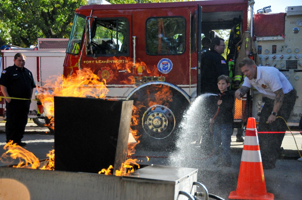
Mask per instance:
[[[275,200],[299,200],[302,196],[302,161],[297,161],[299,153],[302,154],[302,136],[300,133],[286,133],[282,147],[284,157],[278,159],[276,168],[263,170],[266,190],[274,194]],[[295,138],[295,140],[294,140]],[[37,127],[34,123],[28,123],[26,134],[23,138],[27,142],[25,147],[39,159],[45,159],[48,151],[53,149],[54,136],[48,133],[48,129]],[[133,138],[129,136],[129,142]],[[4,123],[0,123],[0,154],[4,153],[5,145]],[[204,154],[199,142],[192,142],[185,152],[157,152],[143,149],[137,145],[133,158],[140,160],[140,165],[172,165],[177,167],[190,167],[198,169],[198,182],[204,184],[208,192],[228,199],[231,191],[236,191],[243,142],[236,142],[236,129],[231,142],[232,166],[217,167],[212,163],[217,156]],[[146,158],[148,156],[148,158]],[[148,161],[149,159],[149,161]],[[0,163],[0,166],[5,164]],[[251,170],[251,173],[255,173]],[[200,190],[201,191],[201,190]]]

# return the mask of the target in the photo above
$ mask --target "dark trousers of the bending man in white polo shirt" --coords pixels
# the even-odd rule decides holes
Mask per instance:
[[[285,121],[290,117],[297,97],[297,91],[284,94],[284,99],[277,117],[284,118]],[[275,100],[264,97],[265,102],[259,119],[259,132],[284,132],[287,125],[282,118],[277,118],[273,123],[267,124],[266,121],[273,111]],[[281,147],[285,133],[259,133],[259,147],[261,152],[262,164],[264,168],[274,168],[278,157],[278,151]]]

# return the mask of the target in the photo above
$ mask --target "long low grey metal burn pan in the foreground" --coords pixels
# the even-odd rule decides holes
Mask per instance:
[[[178,193],[195,191],[192,185],[197,172],[192,168],[153,165],[117,177],[0,167],[0,199],[185,200],[185,196],[177,198]]]

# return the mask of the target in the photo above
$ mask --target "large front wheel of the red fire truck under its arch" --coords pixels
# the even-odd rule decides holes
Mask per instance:
[[[173,150],[175,130],[190,105],[186,93],[169,83],[150,82],[130,95],[133,100],[131,129],[140,146],[151,150]]]

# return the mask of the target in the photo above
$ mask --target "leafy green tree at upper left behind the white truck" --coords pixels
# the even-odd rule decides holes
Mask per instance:
[[[2,0],[0,46],[28,47],[37,38],[68,38],[74,11],[86,0]]]

